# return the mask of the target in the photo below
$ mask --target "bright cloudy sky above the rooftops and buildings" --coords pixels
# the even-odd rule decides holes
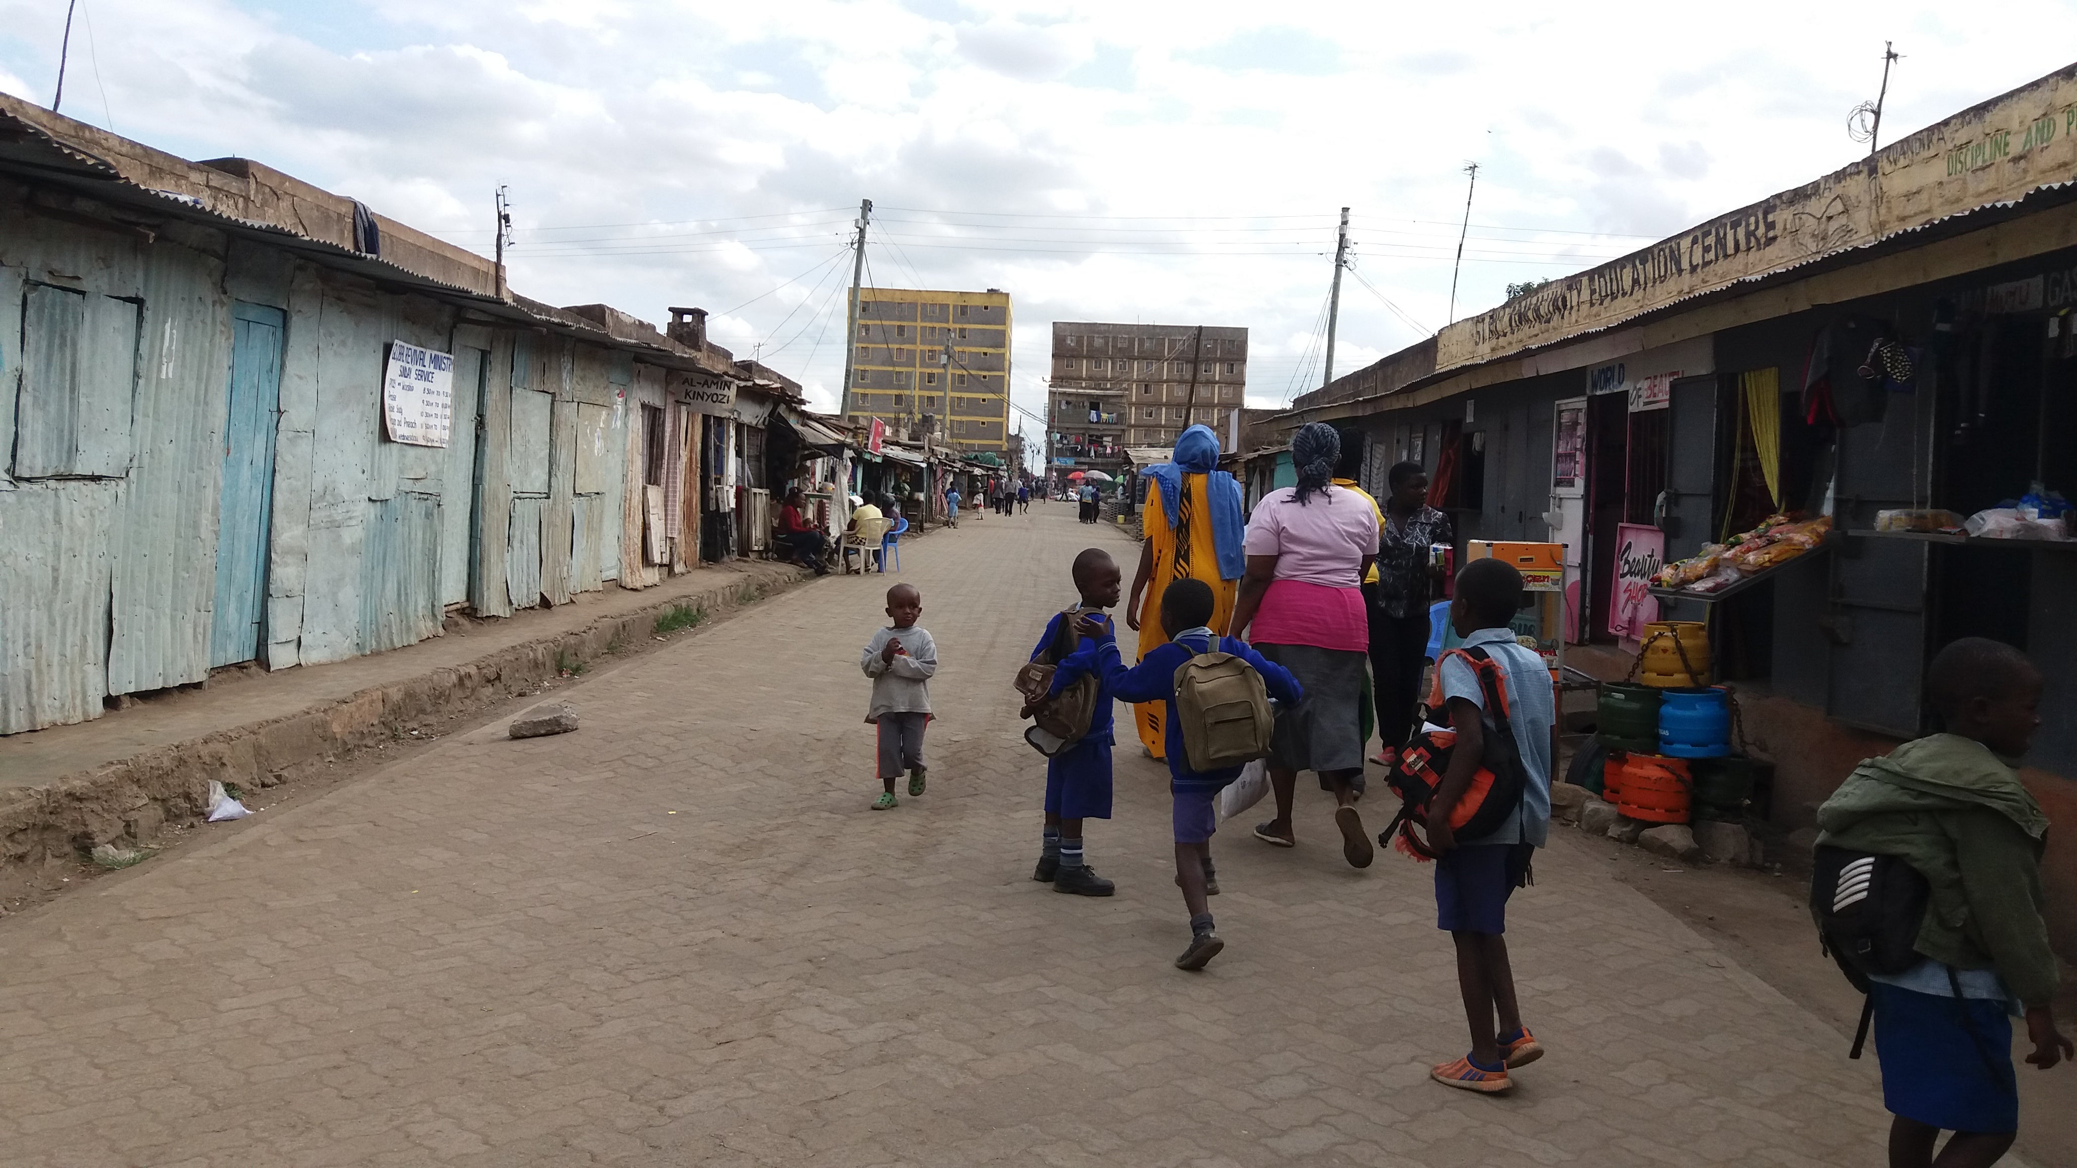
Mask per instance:
[[[513,287],[717,314],[835,403],[845,237],[870,276],[1016,297],[1016,397],[1055,320],[1240,324],[1248,401],[1842,166],[2062,64],[2077,4],[77,0],[64,112],[247,156],[488,251]],[[50,104],[66,0],[0,0],[0,89]],[[2042,35],[2042,31],[2050,35]],[[835,322],[835,326],[831,326]],[[1036,422],[1026,422],[1038,432]]]

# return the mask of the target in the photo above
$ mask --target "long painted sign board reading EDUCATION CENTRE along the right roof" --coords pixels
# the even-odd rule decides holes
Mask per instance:
[[[2067,183],[2077,64],[1963,110],[1795,191],[1697,224],[1441,330],[1435,368],[1493,362],[1622,324],[1682,297]]]

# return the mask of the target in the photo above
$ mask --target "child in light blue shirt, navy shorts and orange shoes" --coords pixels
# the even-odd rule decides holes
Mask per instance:
[[[1529,883],[1529,858],[1543,846],[1552,821],[1552,698],[1549,667],[1533,648],[1514,642],[1508,621],[1522,607],[1522,574],[1504,559],[1475,559],[1456,574],[1450,626],[1464,648],[1481,646],[1500,665],[1508,694],[1508,729],[1522,759],[1522,798],[1500,829],[1479,840],[1456,840],[1450,813],[1471,788],[1485,754],[1485,736],[1498,725],[1473,665],[1446,657],[1437,665],[1444,707],[1456,729],[1450,767],[1427,811],[1429,846],[1435,850],[1435,925],[1456,941],[1456,983],[1471,1023],[1471,1054],[1429,1070],[1448,1087],[1506,1091],[1508,1070],[1543,1058],[1535,1035],[1522,1027],[1508,964],[1508,898]],[[1493,1027],[1493,1014],[1500,1027]]]

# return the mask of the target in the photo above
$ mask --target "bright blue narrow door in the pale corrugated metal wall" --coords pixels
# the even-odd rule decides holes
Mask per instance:
[[[216,515],[212,667],[260,657],[282,324],[278,308],[245,301],[231,308],[231,414],[224,420],[224,486]]]

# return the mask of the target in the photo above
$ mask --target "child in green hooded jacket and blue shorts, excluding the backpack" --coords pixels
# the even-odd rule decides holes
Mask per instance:
[[[1946,734],[1867,759],[1817,808],[1819,844],[1903,856],[1932,885],[1900,975],[1873,977],[1876,1054],[1890,1122],[1890,1168],[1996,1164],[2019,1131],[2013,1025],[2023,1014],[2048,1070],[2071,1058],[2050,1000],[2056,956],[2042,919],[2048,817],[2000,761],[2027,752],[2042,719],[2042,673],[2011,644],[1963,638],[1925,669]]]

